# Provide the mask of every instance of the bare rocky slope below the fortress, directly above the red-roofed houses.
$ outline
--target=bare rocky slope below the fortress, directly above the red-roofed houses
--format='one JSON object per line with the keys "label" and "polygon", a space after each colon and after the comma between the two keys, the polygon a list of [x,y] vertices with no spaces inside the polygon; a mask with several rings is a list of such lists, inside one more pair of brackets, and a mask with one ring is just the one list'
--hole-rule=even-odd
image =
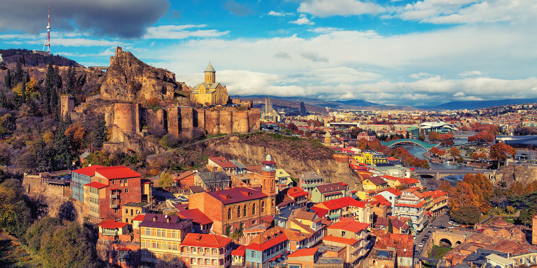
{"label": "bare rocky slope below the fortress, directly above the red-roofed houses", "polygon": [[[282,143],[285,142],[282,141]],[[360,185],[358,175],[346,162],[336,161],[333,157],[316,158],[315,152],[300,156],[293,155],[286,150],[285,144],[280,147],[268,147],[263,143],[257,145],[247,143],[244,141],[244,136],[231,136],[211,140],[206,145],[207,151],[214,150],[221,155],[237,159],[244,165],[259,165],[265,160],[266,155],[270,154],[272,159],[277,162],[277,168],[285,169],[292,177],[315,171],[323,176],[326,182],[344,182],[350,187],[354,187],[354,184]]]}

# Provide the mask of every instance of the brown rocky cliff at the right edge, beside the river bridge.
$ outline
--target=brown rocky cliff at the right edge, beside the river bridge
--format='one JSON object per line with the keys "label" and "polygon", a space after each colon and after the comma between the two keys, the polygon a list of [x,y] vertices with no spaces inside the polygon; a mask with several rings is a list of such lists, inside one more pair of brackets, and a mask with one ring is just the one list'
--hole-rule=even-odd
{"label": "brown rocky cliff at the right edge, beside the river bridge", "polygon": [[537,179],[537,166],[523,166],[515,165],[511,163],[509,166],[502,166],[498,168],[494,177],[494,183],[500,184],[506,183],[506,187],[509,188],[515,182],[521,182],[527,184]]}

